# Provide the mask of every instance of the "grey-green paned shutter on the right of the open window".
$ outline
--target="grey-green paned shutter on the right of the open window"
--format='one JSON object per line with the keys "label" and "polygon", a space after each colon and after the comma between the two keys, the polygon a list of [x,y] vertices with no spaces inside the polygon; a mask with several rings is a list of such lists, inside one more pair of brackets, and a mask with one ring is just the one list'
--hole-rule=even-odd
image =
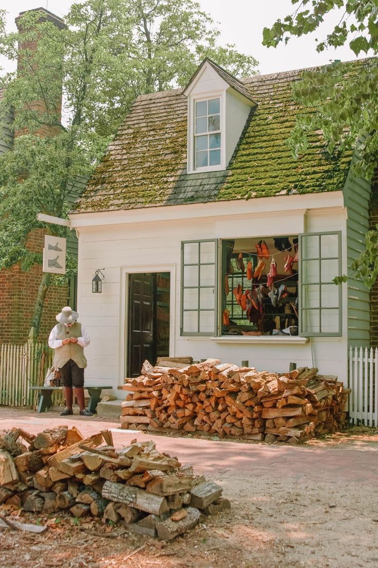
{"label": "grey-green paned shutter on the right of the open window", "polygon": [[341,232],[299,235],[299,335],[341,336]]}

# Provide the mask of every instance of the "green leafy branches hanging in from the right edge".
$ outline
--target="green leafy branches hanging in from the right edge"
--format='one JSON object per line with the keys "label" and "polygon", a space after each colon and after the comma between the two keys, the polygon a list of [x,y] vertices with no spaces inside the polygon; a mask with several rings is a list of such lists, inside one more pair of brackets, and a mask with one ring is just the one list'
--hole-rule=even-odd
{"label": "green leafy branches hanging in from the right edge", "polygon": [[[293,86],[293,96],[304,109],[288,139],[294,156],[307,149],[308,133],[321,131],[330,153],[352,153],[355,175],[371,179],[378,161],[378,2],[376,0],[292,0],[294,12],[263,32],[263,44],[277,47],[292,36],[321,32],[321,24],[336,13],[339,21],[320,40],[316,50],[349,45],[366,59],[341,62],[305,71]],[[378,227],[377,227],[378,228]],[[351,265],[357,277],[371,289],[378,275],[378,232],[366,236],[366,250]],[[376,266],[377,264],[377,266]],[[335,278],[335,283],[346,277]]]}

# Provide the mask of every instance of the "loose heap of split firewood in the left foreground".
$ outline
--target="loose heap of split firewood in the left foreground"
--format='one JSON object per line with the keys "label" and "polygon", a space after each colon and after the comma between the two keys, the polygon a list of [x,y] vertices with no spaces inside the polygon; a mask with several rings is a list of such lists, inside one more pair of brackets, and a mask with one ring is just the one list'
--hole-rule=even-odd
{"label": "loose heap of split firewood in the left foreground", "polygon": [[115,449],[107,430],[85,439],[67,426],[37,436],[19,428],[0,432],[0,506],[5,509],[42,515],[67,509],[74,517],[101,517],[172,540],[192,528],[201,513],[230,508],[221,494],[222,487],[158,452],[152,441]]}

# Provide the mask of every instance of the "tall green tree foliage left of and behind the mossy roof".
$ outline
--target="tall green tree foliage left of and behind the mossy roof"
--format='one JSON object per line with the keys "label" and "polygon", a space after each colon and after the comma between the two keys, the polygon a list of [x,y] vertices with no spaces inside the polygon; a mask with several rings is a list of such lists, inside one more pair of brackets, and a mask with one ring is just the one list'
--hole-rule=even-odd
{"label": "tall green tree foliage left of and behind the mossy roof", "polygon": [[[219,30],[192,0],[86,0],[71,6],[63,29],[39,16],[27,12],[21,33],[7,33],[0,12],[0,53],[19,61],[0,78],[0,131],[10,108],[17,131],[0,157],[0,268],[41,262],[27,248],[33,229],[66,236],[36,214],[67,215],[75,181],[91,174],[139,94],[185,85],[205,56],[232,73],[256,73],[253,57],[218,45]],[[49,284],[44,274],[37,332]]]}

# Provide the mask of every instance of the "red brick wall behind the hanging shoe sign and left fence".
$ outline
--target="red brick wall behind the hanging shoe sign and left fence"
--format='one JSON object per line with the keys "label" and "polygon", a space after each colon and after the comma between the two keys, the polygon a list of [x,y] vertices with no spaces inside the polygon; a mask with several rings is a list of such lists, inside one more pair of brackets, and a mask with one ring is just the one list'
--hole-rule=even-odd
{"label": "red brick wall behind the hanging shoe sign and left fence", "polygon": [[[33,231],[27,247],[34,252],[43,249],[42,230]],[[31,327],[37,291],[42,275],[40,265],[23,272],[18,265],[0,271],[0,343],[24,343]],[[50,286],[45,299],[39,340],[48,338],[56,324],[55,316],[67,304],[67,286]]]}

